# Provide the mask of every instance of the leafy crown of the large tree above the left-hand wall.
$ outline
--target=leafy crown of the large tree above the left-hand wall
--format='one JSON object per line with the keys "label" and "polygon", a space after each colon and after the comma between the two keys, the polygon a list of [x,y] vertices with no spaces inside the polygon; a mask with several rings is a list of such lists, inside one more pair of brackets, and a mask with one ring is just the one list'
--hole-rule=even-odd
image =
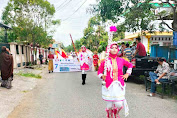
{"label": "leafy crown of the large tree above the left-hand wall", "polygon": [[8,41],[48,47],[53,40],[49,28],[60,24],[60,20],[52,19],[54,13],[54,6],[46,0],[10,0],[2,15],[3,23],[13,28]]}

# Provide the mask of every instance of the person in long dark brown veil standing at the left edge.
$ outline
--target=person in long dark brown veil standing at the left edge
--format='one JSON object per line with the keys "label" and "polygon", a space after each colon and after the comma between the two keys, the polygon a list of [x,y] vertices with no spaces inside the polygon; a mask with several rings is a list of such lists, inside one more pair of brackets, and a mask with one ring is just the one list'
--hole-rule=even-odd
{"label": "person in long dark brown veil standing at the left edge", "polygon": [[0,70],[2,83],[1,87],[10,89],[12,87],[11,82],[13,80],[13,57],[9,49],[6,46],[2,47],[2,53],[0,55]]}

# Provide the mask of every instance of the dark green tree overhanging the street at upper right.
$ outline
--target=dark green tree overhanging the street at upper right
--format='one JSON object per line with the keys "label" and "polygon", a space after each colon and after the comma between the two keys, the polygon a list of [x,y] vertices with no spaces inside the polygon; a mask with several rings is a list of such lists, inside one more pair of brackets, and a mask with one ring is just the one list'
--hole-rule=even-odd
{"label": "dark green tree overhanging the street at upper right", "polygon": [[118,22],[120,18],[124,18],[125,21],[121,26],[124,26],[126,31],[154,32],[156,30],[154,24],[152,24],[154,20],[162,20],[159,25],[160,27],[166,25],[169,29],[177,31],[177,1],[172,0],[174,2],[174,4],[172,4],[169,0],[163,0],[163,2],[159,4],[161,6],[168,4],[172,8],[172,27],[164,22],[167,14],[154,13],[156,7],[151,4],[151,1],[152,0],[143,0],[143,2],[139,0],[101,0],[97,5],[92,6],[92,13],[98,14],[103,22],[108,20]]}

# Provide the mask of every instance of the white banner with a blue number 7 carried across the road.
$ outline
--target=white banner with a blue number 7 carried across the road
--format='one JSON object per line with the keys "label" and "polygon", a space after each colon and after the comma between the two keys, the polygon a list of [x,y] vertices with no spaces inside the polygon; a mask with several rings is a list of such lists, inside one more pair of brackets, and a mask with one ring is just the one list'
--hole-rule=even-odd
{"label": "white banner with a blue number 7 carried across the road", "polygon": [[54,72],[75,72],[80,70],[80,62],[77,59],[54,59]]}

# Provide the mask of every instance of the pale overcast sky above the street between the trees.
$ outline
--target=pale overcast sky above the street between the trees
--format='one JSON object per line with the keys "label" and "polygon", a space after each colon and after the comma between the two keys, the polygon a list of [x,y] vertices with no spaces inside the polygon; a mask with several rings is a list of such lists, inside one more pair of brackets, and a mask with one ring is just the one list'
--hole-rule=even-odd
{"label": "pale overcast sky above the street between the trees", "polygon": [[[0,0],[0,17],[2,11],[9,0]],[[90,4],[95,4],[96,0],[48,0],[56,8],[54,19],[61,19],[61,25],[56,27],[53,38],[62,42],[64,46],[71,44],[69,34],[71,33],[73,40],[83,37],[83,31],[87,27],[91,14],[86,13]],[[85,2],[86,1],[86,2]],[[85,3],[84,3],[85,2]],[[84,3],[84,4],[83,4]],[[80,7],[83,4],[82,7]],[[78,8],[80,9],[75,12]],[[1,22],[1,21],[0,21]]]}

